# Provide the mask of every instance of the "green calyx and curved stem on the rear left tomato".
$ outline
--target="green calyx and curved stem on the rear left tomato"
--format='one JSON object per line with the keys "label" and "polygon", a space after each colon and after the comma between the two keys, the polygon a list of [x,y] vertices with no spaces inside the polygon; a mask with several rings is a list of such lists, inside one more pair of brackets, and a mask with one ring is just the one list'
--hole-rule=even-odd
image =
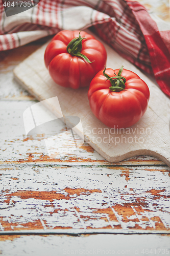
{"label": "green calyx and curved stem on the rear left tomato", "polygon": [[85,37],[81,37],[79,32],[79,37],[72,39],[67,45],[67,52],[73,56],[79,56],[85,59],[88,63],[92,63],[84,54],[81,53],[82,50],[82,40],[86,39]]}

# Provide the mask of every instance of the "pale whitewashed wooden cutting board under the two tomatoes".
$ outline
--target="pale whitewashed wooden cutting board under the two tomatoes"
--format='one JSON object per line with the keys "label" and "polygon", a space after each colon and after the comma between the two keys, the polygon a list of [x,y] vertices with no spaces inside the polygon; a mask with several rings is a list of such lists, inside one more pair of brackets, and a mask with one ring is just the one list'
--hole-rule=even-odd
{"label": "pale whitewashed wooden cutting board under the two tomatoes", "polygon": [[[85,141],[106,160],[119,162],[136,155],[149,155],[170,166],[170,100],[153,81],[104,44],[108,55],[107,68],[118,69],[123,65],[134,71],[148,84],[151,94],[147,112],[135,125],[129,129],[109,129],[92,114],[88,88],[67,89],[53,82],[43,60],[46,46],[43,45],[14,69],[15,79],[25,89],[39,101],[57,96],[63,115],[80,117]],[[52,110],[52,106],[48,107]]]}

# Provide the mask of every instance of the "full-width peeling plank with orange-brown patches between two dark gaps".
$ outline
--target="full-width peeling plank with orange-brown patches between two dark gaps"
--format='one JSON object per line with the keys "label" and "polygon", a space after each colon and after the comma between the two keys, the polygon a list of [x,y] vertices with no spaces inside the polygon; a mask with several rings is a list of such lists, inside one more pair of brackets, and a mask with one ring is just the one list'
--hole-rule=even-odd
{"label": "full-width peeling plank with orange-brown patches between two dark gaps", "polygon": [[170,231],[169,167],[1,166],[2,231]]}

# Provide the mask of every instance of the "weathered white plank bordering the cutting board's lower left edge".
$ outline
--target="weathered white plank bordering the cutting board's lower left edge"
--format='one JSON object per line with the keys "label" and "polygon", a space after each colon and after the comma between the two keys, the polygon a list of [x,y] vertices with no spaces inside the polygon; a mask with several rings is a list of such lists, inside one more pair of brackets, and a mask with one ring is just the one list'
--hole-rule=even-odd
{"label": "weathered white plank bordering the cutting board's lower left edge", "polygon": [[[54,154],[47,155],[43,139],[46,134],[38,134],[36,139],[26,136],[23,124],[23,112],[29,106],[35,104],[35,100],[1,100],[0,102],[0,163],[9,164],[110,164],[91,146],[84,143],[76,148],[72,142],[70,132],[60,134]],[[55,134],[55,131],[54,131]],[[55,142],[55,141],[54,141]],[[160,160],[152,157],[135,157],[123,162],[124,165],[153,165],[163,164]],[[164,164],[165,165],[165,164]]]}

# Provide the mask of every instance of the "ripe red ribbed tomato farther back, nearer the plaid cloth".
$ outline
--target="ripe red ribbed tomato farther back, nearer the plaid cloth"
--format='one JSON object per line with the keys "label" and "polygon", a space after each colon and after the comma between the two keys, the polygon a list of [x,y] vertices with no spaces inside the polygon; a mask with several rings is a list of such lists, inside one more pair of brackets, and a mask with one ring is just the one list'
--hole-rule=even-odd
{"label": "ripe red ribbed tomato farther back, nearer the plaid cloth", "polygon": [[82,31],[60,31],[45,50],[45,66],[53,80],[63,87],[89,86],[92,78],[106,65],[102,43]]}

